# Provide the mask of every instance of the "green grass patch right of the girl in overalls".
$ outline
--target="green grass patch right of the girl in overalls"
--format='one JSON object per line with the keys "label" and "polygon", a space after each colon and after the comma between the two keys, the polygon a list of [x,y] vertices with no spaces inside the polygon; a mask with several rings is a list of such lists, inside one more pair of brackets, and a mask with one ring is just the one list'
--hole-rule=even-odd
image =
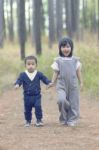
{"label": "green grass patch right of the girl in overalls", "polygon": [[99,92],[99,51],[97,47],[79,45],[77,55],[82,62],[84,89],[95,95]]}

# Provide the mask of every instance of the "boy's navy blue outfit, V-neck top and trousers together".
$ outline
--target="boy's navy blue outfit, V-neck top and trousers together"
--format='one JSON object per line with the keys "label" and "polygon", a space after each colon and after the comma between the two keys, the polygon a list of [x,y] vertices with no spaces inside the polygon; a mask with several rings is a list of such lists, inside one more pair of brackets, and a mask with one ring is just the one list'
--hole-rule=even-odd
{"label": "boy's navy blue outfit, V-neck top and trousers together", "polygon": [[43,73],[37,71],[36,76],[31,81],[25,72],[20,73],[19,78],[15,84],[19,86],[23,85],[24,93],[24,115],[25,120],[31,123],[32,120],[32,108],[35,108],[35,116],[37,120],[42,119],[42,107],[41,107],[41,86],[40,81],[48,85],[51,81],[43,75]]}

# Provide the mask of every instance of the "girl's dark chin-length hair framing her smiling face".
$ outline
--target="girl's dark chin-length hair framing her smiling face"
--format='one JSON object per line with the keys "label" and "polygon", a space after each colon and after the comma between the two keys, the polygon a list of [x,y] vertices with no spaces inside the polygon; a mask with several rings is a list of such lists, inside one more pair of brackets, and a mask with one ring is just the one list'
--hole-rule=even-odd
{"label": "girl's dark chin-length hair framing her smiling face", "polygon": [[70,39],[70,38],[67,38],[67,37],[64,37],[64,38],[62,38],[60,41],[59,41],[59,55],[61,56],[61,57],[65,57],[64,55],[63,55],[63,53],[62,53],[62,51],[61,51],[61,47],[63,46],[66,46],[67,44],[69,44],[70,45],[70,47],[71,47],[71,52],[70,52],[70,54],[67,56],[67,57],[71,57],[72,56],[72,54],[73,54],[73,41]]}

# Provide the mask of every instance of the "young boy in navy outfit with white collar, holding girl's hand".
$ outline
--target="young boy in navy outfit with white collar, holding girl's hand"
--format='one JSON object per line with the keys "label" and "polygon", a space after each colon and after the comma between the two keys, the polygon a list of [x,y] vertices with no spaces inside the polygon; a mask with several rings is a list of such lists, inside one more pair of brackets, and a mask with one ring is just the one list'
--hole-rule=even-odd
{"label": "young boy in navy outfit with white collar, holding girl's hand", "polygon": [[33,107],[35,108],[36,126],[43,126],[40,81],[49,86],[51,81],[42,72],[37,71],[37,58],[35,56],[25,58],[25,67],[26,70],[20,73],[15,82],[15,89],[23,85],[25,126],[31,125]]}

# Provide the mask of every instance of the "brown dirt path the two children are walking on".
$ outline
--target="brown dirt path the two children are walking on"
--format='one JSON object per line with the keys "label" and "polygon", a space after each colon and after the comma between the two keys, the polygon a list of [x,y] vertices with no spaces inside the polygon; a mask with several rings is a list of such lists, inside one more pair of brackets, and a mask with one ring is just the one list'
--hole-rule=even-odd
{"label": "brown dirt path the two children are walking on", "polygon": [[24,127],[22,91],[0,97],[0,150],[99,150],[99,102],[81,97],[77,127],[62,126],[54,89],[42,89],[45,126]]}

